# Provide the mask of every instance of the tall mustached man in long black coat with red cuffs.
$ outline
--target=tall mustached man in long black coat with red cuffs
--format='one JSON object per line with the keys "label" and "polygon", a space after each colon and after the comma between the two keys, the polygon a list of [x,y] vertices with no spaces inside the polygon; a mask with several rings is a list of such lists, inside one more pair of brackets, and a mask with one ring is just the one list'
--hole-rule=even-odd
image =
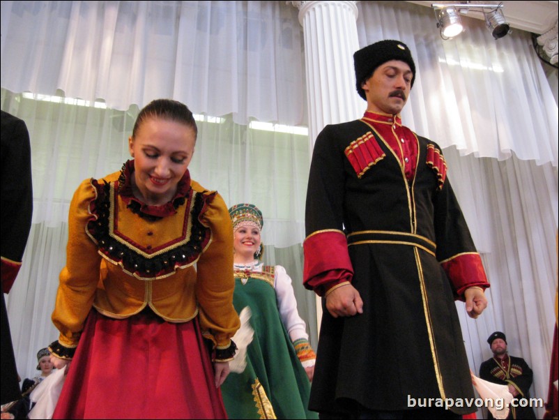
{"label": "tall mustached man in long black coat with red cuffs", "polygon": [[323,128],[307,188],[304,283],[323,297],[309,408],[459,419],[477,408],[441,404],[474,398],[454,300],[476,318],[489,283],[441,147],[401,123],[415,81],[407,45],[381,40],[353,60],[367,110]]}

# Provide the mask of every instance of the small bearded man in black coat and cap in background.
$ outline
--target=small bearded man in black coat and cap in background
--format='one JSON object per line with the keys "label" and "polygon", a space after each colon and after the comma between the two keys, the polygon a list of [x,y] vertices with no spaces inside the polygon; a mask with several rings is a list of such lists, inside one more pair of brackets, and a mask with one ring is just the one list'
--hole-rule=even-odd
{"label": "small bearded man in black coat and cap in background", "polygon": [[[517,398],[517,407],[510,406],[507,419],[535,419],[532,407],[528,405],[530,393],[528,392],[533,381],[533,372],[528,363],[521,357],[509,356],[507,352],[507,338],[504,333],[495,331],[487,338],[493,357],[482,363],[480,377],[483,380],[500,385],[508,385],[509,392]],[[522,401],[528,400],[528,401]],[[526,405],[526,407],[520,407]],[[488,413],[489,419],[493,419]]]}

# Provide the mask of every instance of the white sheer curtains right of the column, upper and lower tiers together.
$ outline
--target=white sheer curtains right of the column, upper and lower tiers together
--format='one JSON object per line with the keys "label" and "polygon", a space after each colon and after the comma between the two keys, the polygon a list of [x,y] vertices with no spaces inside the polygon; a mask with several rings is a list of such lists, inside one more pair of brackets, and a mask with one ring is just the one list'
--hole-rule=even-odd
{"label": "white sheer curtains right of the column, upper and lower tiers together", "polygon": [[470,320],[457,303],[470,368],[479,373],[491,357],[487,337],[503,331],[510,353],[534,370],[532,396],[546,400],[557,287],[558,107],[530,34],[493,40],[482,21],[462,17],[466,33],[443,41],[430,8],[402,1],[360,1],[358,8],[361,47],[386,38],[410,47],[418,78],[402,119],[445,148],[449,179],[482,253],[489,308]]}

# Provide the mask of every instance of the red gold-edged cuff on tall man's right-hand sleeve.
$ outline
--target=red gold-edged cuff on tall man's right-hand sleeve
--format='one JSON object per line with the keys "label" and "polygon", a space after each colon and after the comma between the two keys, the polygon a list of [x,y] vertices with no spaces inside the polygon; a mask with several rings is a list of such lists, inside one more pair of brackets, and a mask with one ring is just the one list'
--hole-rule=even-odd
{"label": "red gold-edged cuff on tall man's right-hand sleeve", "polygon": [[461,253],[441,261],[441,266],[454,286],[454,298],[464,301],[468,287],[489,287],[482,258],[478,253]]}

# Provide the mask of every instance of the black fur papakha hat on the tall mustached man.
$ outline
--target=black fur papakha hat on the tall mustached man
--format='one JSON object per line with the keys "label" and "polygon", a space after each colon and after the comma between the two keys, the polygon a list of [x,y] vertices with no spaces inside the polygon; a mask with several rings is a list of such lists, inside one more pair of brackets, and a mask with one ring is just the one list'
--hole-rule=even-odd
{"label": "black fur papakha hat on the tall mustached man", "polygon": [[411,86],[415,82],[415,63],[408,46],[399,40],[385,39],[358,50],[353,54],[355,66],[355,87],[361,98],[367,100],[361,84],[372,76],[374,70],[386,61],[399,60],[408,63],[413,73]]}

